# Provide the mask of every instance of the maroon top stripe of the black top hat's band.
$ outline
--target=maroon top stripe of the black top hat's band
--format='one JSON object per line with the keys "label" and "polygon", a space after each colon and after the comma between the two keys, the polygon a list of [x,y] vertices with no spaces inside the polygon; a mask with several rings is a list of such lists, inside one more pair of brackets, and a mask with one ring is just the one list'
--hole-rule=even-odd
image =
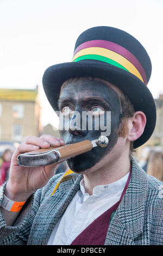
{"label": "maroon top stripe of the black top hat's band", "polygon": [[114,42],[110,42],[106,40],[91,40],[91,41],[84,42],[82,45],[79,45],[74,51],[74,55],[77,52],[83,50],[84,48],[90,48],[90,47],[103,47],[108,50],[114,51],[118,54],[121,54],[121,56],[128,59],[129,62],[135,66],[135,68],[140,72],[144,83],[147,85],[147,76],[146,76],[145,70],[143,69],[139,60],[126,48],[122,47],[121,45],[117,45]]}

